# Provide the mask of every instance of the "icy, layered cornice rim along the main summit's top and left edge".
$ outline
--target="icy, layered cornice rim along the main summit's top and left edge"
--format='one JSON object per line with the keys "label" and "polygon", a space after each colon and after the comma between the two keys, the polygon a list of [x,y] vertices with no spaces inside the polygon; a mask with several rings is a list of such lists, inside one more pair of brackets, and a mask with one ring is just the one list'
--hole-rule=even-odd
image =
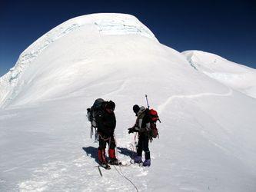
{"label": "icy, layered cornice rim along the main summit's top and left edge", "polygon": [[[87,28],[87,31],[102,37],[104,35],[141,35],[158,42],[155,35],[133,15],[100,13],[71,18],[38,38],[22,52],[15,67],[0,78],[0,106],[7,98],[15,94],[13,93],[14,87],[23,83],[19,81],[23,71],[41,55],[42,51],[54,44],[55,41],[71,33],[71,31],[79,30],[81,27]],[[91,38],[91,36],[90,34],[83,35],[81,41],[83,41],[83,38]]]}

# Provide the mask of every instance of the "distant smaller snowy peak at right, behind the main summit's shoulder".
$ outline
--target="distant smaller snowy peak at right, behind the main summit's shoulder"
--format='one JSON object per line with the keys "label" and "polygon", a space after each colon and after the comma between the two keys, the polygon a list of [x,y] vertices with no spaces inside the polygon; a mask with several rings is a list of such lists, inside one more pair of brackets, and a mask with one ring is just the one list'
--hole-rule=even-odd
{"label": "distant smaller snowy peak at right, behind the main summit's shoulder", "polygon": [[204,51],[184,51],[191,66],[241,93],[256,98],[256,70]]}

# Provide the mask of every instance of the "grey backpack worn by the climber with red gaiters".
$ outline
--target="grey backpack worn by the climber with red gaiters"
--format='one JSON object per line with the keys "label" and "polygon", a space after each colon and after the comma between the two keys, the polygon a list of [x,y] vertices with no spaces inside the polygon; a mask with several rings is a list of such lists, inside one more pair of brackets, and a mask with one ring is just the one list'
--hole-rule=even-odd
{"label": "grey backpack worn by the climber with red gaiters", "polygon": [[94,104],[91,106],[91,108],[87,109],[87,118],[88,121],[91,122],[91,135],[93,134],[93,128],[98,127],[97,125],[97,121],[96,121],[96,113],[101,110],[101,105],[104,103],[105,101],[102,98],[98,98],[95,100]]}

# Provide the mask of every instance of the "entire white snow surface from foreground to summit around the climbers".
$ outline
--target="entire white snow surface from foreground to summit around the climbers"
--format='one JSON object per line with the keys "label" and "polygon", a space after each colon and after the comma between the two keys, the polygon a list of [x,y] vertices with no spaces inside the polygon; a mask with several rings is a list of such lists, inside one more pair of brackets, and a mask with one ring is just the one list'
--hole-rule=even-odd
{"label": "entire white snow surface from foreground to summit around the climbers", "polygon": [[[131,15],[85,15],[49,31],[0,78],[0,190],[255,191],[255,71],[202,55],[161,45]],[[132,106],[145,94],[161,118],[151,167],[101,177],[86,108],[115,101],[117,155],[129,162]]]}

